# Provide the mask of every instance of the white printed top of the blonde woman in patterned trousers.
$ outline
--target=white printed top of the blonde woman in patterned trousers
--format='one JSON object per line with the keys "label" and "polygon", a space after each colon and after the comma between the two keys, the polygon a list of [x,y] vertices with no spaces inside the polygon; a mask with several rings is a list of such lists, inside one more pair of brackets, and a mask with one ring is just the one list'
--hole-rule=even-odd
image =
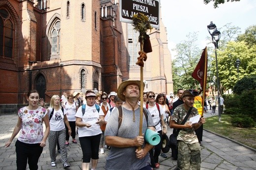
{"label": "white printed top of the blonde woman in patterned trousers", "polygon": [[[48,108],[49,109],[49,117],[53,111],[53,108]],[[61,109],[58,111],[54,110],[53,116],[50,120],[50,131],[61,131],[65,129],[64,125],[64,113],[62,112]]]}

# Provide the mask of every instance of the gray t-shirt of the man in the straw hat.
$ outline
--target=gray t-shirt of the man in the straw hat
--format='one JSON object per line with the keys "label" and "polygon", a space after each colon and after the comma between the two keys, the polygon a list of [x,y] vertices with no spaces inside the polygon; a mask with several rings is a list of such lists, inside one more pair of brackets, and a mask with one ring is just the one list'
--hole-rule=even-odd
{"label": "gray t-shirt of the man in the straw hat", "polygon": [[[151,114],[147,109],[146,111],[148,114],[148,125],[146,117],[143,114],[143,134],[145,134],[147,127],[154,127]],[[123,108],[123,120],[118,129],[118,109],[115,109],[108,119],[105,136],[118,136],[128,139],[135,138],[139,135],[139,119],[140,108],[135,110],[135,122],[133,122],[133,112]],[[143,159],[137,159],[135,153],[136,149],[137,147],[119,148],[111,146],[109,156],[106,158],[106,170],[139,170],[149,165],[149,153]]]}

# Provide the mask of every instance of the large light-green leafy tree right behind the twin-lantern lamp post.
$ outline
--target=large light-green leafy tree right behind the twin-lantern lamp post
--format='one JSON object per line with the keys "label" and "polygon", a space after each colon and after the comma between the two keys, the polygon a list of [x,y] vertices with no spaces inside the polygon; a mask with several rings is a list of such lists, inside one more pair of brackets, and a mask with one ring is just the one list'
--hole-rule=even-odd
{"label": "large light-green leafy tree right behind the twin-lantern lamp post", "polygon": [[[244,76],[256,75],[256,48],[248,48],[242,42],[230,41],[223,51],[218,51],[219,78],[223,90],[233,89],[238,81],[236,59],[240,59],[239,79]],[[215,65],[215,61],[213,61]],[[213,70],[214,71],[214,70]]]}

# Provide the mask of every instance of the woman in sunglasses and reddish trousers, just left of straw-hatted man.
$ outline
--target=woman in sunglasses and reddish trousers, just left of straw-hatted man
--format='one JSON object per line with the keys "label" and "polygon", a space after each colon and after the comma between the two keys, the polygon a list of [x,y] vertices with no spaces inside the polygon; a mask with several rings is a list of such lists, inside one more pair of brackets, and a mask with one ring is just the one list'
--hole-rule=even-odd
{"label": "woman in sunglasses and reddish trousers, just left of straw-hatted man", "polygon": [[[106,116],[108,110],[111,108],[109,103],[107,102],[107,93],[103,92],[101,94],[101,100],[102,103],[100,103],[99,107],[102,109],[103,113],[104,113],[104,117]],[[100,153],[103,154],[104,153],[104,148],[103,148],[103,143],[104,143],[104,132],[106,129],[106,124],[107,122],[104,122],[103,125],[100,126],[100,129],[102,131],[101,137],[100,137],[100,142],[99,142],[99,147],[100,147]]]}

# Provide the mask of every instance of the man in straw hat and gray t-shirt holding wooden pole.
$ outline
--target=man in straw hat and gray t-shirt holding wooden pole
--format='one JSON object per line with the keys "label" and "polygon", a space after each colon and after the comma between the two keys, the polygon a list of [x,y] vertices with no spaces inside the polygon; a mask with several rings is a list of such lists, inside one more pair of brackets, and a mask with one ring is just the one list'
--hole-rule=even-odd
{"label": "man in straw hat and gray t-shirt holding wooden pole", "polygon": [[[147,128],[155,131],[155,126],[151,114],[146,110],[148,119],[143,114],[143,136],[138,136],[140,81],[122,82],[118,87],[117,95],[125,101],[122,105],[123,118],[120,125],[118,109],[115,109],[108,119],[105,141],[111,149],[105,168],[107,170],[151,170],[149,150],[153,145],[145,142],[144,134]],[[138,146],[141,146],[141,150],[138,150]]]}

